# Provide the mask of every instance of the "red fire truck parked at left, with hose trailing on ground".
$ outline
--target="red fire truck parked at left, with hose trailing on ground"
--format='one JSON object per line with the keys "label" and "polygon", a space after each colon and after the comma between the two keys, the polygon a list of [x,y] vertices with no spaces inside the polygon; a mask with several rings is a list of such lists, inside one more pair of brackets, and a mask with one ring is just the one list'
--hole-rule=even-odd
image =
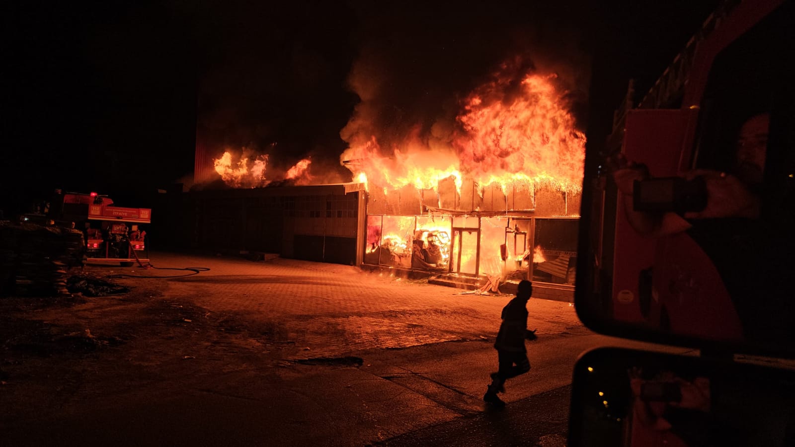
{"label": "red fire truck parked at left, with hose trailing on ground", "polygon": [[149,261],[144,228],[152,221],[150,208],[114,206],[110,197],[96,192],[56,190],[46,216],[52,223],[83,231],[85,262],[132,266]]}

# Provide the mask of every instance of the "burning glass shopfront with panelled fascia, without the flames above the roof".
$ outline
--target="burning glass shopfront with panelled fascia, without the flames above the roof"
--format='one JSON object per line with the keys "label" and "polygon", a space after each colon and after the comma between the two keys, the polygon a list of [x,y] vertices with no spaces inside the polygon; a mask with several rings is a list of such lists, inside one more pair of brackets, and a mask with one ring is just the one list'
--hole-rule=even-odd
{"label": "burning glass shopfront with panelled fascia, without the flames above the roof", "polygon": [[568,301],[579,193],[529,181],[461,190],[448,178],[437,190],[368,192],[363,266],[419,270],[437,284],[483,291],[531,278],[539,293]]}

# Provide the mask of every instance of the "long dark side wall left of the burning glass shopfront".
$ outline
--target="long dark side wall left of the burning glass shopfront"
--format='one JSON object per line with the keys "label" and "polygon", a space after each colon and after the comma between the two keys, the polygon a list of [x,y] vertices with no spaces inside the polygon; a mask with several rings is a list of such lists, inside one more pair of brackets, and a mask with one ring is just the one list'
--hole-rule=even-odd
{"label": "long dark side wall left of the burning glass shopfront", "polygon": [[[359,193],[345,185],[224,189],[176,194],[163,204],[173,246],[262,251],[318,262],[355,263]],[[171,219],[173,217],[173,219]]]}

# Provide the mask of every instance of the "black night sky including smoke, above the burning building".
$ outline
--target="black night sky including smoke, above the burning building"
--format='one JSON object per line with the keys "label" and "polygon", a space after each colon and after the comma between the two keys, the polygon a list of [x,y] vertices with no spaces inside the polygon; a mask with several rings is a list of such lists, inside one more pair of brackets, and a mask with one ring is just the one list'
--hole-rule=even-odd
{"label": "black night sky including smoke, above the burning building", "polygon": [[598,146],[630,77],[650,87],[716,4],[4,2],[0,209],[189,183],[197,125],[344,175],[357,105],[384,131],[427,125],[517,54],[559,74]]}

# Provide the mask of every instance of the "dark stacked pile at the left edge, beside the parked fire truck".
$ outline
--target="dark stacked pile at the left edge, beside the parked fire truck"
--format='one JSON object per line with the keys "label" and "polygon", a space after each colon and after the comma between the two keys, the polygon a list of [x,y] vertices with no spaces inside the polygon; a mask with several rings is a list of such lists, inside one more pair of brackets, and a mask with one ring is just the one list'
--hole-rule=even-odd
{"label": "dark stacked pile at the left edge, beside the parked fire truck", "polygon": [[83,262],[74,228],[0,221],[0,296],[68,294],[68,270]]}

